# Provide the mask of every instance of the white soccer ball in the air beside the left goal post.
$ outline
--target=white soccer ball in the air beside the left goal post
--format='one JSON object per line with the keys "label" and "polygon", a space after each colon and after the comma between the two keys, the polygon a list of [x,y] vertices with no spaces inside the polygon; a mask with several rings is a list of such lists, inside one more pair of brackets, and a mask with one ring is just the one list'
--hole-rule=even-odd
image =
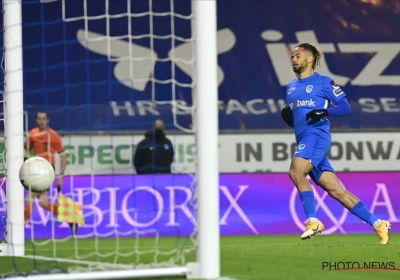
{"label": "white soccer ball in the air beside the left goal post", "polygon": [[42,157],[27,159],[19,170],[22,186],[32,192],[47,191],[55,177],[53,166]]}

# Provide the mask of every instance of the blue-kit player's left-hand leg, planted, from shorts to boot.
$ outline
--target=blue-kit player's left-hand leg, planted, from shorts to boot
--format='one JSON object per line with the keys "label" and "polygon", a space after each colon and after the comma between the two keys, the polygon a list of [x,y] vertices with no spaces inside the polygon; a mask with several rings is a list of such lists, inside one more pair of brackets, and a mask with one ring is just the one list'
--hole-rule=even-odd
{"label": "blue-kit player's left-hand leg, planted, from shorts to boot", "polygon": [[307,174],[314,168],[311,162],[315,161],[314,153],[318,141],[314,134],[306,135],[298,141],[296,151],[290,165],[289,177],[295,184],[299,197],[307,216],[308,222],[302,239],[308,239],[324,230],[324,225],[318,220],[315,209],[314,192],[307,180]]}

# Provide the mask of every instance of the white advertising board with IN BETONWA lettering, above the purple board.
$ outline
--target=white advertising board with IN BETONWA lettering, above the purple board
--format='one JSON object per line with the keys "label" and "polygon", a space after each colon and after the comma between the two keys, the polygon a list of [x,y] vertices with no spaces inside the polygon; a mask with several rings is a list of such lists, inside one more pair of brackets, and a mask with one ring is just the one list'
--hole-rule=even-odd
{"label": "white advertising board with IN BETONWA lettering, above the purple board", "polygon": [[[194,136],[168,137],[175,150],[173,172],[195,172]],[[132,159],[142,139],[140,135],[66,135],[67,173],[135,173]],[[399,140],[399,133],[334,133],[329,158],[338,171],[399,171]],[[289,133],[223,134],[219,136],[219,169],[222,173],[287,172],[295,146],[294,135]]]}

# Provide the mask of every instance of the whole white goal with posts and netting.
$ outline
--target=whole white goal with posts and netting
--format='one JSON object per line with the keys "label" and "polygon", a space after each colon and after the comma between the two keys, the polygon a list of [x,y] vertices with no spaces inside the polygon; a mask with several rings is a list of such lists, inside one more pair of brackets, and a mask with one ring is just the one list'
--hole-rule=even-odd
{"label": "whole white goal with posts and netting", "polygon": [[[0,279],[219,276],[215,6],[3,1]],[[65,150],[28,220],[24,110]]]}

